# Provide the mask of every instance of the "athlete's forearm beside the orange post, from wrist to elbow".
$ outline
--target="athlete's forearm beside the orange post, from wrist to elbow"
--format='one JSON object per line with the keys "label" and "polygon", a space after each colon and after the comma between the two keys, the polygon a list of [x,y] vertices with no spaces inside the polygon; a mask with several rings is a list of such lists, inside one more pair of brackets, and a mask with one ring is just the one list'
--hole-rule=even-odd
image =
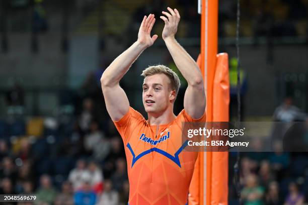
{"label": "athlete's forearm beside the orange post, from wrist to elbow", "polygon": [[183,77],[189,85],[202,84],[202,74],[194,59],[175,40],[174,37],[164,39],[166,46]]}

